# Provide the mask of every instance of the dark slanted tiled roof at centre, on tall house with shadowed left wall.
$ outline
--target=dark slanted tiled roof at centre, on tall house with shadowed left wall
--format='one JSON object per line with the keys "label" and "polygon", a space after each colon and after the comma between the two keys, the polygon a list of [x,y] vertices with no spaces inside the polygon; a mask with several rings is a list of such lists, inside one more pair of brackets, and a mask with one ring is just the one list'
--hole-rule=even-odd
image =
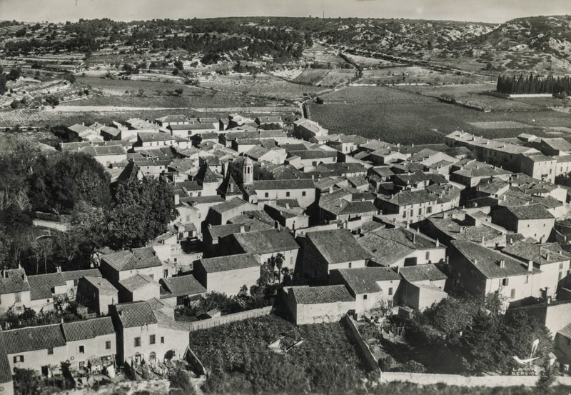
{"label": "dark slanted tiled roof at centre, on tall house with shadowed left wall", "polygon": [[360,246],[347,229],[315,231],[305,235],[329,264],[369,259],[370,254]]}

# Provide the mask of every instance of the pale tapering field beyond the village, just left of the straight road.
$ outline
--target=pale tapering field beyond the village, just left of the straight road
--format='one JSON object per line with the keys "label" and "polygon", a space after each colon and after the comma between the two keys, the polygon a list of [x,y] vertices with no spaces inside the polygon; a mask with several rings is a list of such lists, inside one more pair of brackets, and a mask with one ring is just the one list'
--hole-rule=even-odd
{"label": "pale tapering field beyond the village, just left of the straight road", "polygon": [[315,94],[323,88],[305,86],[283,81],[274,76],[213,76],[201,79],[201,86],[248,96],[261,96],[271,99],[296,100],[305,94]]}

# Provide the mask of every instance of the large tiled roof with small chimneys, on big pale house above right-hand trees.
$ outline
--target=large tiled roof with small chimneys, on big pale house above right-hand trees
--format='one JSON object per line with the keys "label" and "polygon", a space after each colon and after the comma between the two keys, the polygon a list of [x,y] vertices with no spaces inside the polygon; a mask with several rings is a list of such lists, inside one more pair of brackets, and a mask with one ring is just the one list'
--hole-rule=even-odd
{"label": "large tiled roof with small chimneys, on big pale house above right-hand trees", "polygon": [[[453,240],[450,243],[457,249],[460,254],[465,256],[473,263],[487,279],[497,279],[500,277],[522,276],[530,274],[527,266],[522,264],[511,256],[501,254],[500,252],[488,249],[480,244],[471,241]],[[504,261],[504,267],[500,267],[500,261]],[[540,273],[539,270],[533,269],[533,274]]]}

